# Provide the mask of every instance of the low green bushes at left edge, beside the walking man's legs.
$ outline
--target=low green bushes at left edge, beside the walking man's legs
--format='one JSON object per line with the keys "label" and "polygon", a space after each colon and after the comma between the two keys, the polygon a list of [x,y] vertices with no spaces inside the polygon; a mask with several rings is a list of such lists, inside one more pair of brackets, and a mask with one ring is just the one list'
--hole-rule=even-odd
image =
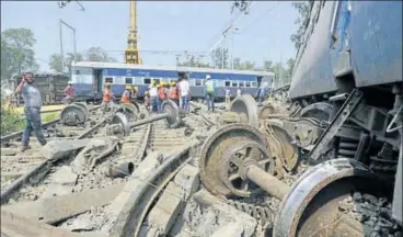
{"label": "low green bushes at left edge, beside the walking man's legs", "polygon": [[25,122],[1,100],[1,136],[23,129]]}

